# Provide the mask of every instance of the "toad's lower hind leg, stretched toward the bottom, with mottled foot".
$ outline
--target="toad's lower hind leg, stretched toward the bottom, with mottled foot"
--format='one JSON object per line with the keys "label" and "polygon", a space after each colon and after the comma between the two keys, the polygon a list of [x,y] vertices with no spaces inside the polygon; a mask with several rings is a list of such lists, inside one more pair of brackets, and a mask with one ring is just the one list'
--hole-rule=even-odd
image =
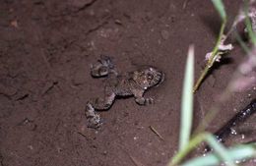
{"label": "toad's lower hind leg, stretched toward the bottom, with mottled foot", "polygon": [[115,98],[114,92],[106,93],[104,98],[91,99],[87,103],[86,107],[86,117],[88,119],[89,128],[98,128],[101,125],[101,120],[99,114],[96,110],[107,110],[112,105]]}

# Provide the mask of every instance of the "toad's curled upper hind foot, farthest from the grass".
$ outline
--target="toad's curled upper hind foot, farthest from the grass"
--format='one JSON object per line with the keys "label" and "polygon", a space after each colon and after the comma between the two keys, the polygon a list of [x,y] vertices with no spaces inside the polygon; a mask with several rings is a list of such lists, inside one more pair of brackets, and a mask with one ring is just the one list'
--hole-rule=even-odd
{"label": "toad's curled upper hind foot, farthest from the grass", "polygon": [[91,65],[91,75],[95,78],[107,76],[114,65],[110,57],[101,55],[96,64]]}

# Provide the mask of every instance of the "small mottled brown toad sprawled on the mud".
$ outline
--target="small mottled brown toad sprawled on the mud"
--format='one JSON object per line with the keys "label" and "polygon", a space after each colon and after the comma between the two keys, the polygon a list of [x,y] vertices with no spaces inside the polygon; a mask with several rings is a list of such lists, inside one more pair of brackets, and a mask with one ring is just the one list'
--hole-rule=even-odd
{"label": "small mottled brown toad sprawled on the mud", "polygon": [[119,75],[107,56],[101,56],[96,64],[91,65],[91,75],[93,78],[106,77],[103,97],[91,99],[86,106],[88,127],[94,129],[101,125],[96,110],[109,109],[116,96],[134,96],[136,103],[140,105],[151,104],[153,99],[145,98],[145,91],[164,80],[163,73],[151,66]]}

